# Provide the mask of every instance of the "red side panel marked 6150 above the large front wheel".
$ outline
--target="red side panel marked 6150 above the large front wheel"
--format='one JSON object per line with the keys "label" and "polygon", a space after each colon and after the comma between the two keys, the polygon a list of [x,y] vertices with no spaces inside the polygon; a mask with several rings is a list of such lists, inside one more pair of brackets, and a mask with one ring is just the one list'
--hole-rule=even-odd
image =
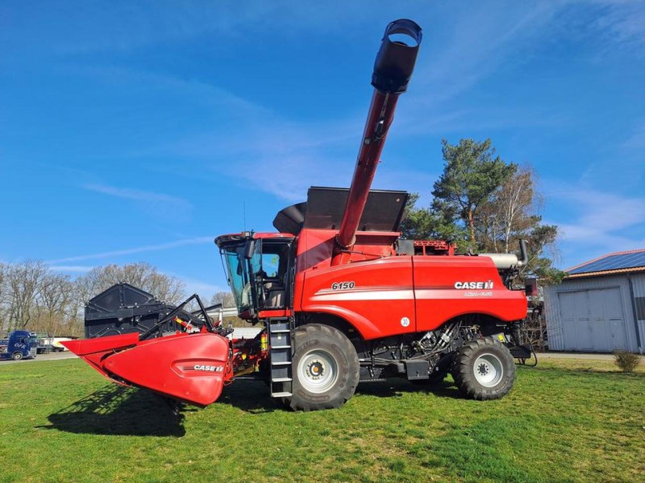
{"label": "red side panel marked 6150 above the large front wheel", "polygon": [[395,256],[299,274],[303,312],[352,323],[365,339],[416,332],[412,257]]}

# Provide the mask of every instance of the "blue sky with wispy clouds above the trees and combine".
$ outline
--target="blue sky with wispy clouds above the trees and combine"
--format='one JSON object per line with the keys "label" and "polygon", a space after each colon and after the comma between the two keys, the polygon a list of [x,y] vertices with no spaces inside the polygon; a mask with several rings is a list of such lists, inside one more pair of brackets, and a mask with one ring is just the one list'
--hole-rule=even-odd
{"label": "blue sky with wispy clouds above the trees and combine", "polygon": [[[320,5],[324,5],[321,7]],[[224,290],[217,234],[348,185],[382,30],[424,28],[373,184],[430,199],[442,137],[531,164],[557,265],[645,247],[645,4],[0,6],[0,261],[148,261]]]}

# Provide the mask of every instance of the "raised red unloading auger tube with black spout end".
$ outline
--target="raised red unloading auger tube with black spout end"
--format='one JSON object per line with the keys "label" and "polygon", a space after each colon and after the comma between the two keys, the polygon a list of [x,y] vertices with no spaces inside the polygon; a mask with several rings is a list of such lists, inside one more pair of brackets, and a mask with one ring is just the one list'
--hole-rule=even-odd
{"label": "raised red unloading auger tube with black spout end", "polygon": [[336,235],[332,265],[341,265],[350,260],[350,252],[356,242],[356,231],[392,124],[397,100],[408,88],[412,77],[421,36],[421,27],[407,19],[395,20],[385,29],[372,73],[372,104],[363,131],[350,193]]}

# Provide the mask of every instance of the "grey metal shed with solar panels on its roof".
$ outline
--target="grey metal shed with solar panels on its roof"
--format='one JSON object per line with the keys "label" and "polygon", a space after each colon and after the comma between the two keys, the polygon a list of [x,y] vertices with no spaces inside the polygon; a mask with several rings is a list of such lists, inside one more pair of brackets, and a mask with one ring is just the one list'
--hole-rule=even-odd
{"label": "grey metal shed with solar panels on its roof", "polygon": [[645,249],[615,252],[565,270],[545,287],[550,350],[643,353]]}

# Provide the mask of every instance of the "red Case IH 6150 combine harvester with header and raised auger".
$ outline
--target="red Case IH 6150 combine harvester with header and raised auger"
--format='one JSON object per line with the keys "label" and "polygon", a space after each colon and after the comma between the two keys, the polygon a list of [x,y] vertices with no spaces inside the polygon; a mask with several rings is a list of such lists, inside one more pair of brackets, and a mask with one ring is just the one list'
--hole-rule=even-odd
{"label": "red Case IH 6150 combine harvester with header and raised auger", "polygon": [[[264,328],[230,339],[197,296],[165,305],[126,284],[86,308],[86,337],[64,343],[112,381],[184,403],[217,400],[235,377],[263,379],[294,410],[338,408],[359,382],[437,381],[497,399],[515,379],[526,296],[514,254],[455,254],[450,243],[402,240],[408,193],[370,191],[399,95],[421,43],[410,20],[386,28],[350,189],[312,187],[280,211],[278,232],[217,237],[239,316]],[[185,310],[195,299],[197,312]]]}

